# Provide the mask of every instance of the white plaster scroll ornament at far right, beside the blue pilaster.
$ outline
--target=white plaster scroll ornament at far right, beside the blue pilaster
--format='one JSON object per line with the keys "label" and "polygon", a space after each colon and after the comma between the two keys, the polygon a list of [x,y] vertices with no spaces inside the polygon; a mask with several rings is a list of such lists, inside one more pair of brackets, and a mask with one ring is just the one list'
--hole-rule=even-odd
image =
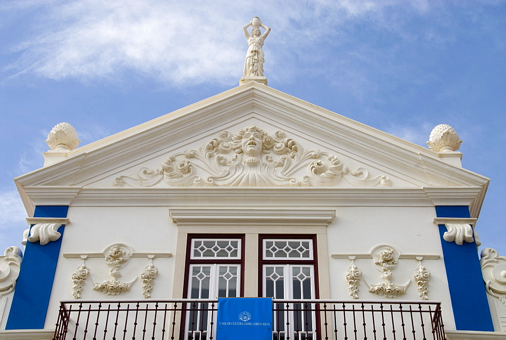
{"label": "white plaster scroll ornament at far right, beside the blue pilaster", "polygon": [[492,248],[481,252],[481,271],[487,293],[506,306],[506,257]]}

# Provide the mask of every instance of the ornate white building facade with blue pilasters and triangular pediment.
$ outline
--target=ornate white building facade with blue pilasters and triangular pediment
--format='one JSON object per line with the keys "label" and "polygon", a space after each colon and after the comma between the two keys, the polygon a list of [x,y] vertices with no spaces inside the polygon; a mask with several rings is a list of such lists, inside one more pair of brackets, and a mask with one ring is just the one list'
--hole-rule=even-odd
{"label": "ornate white building facade with blue pilasters and triangular pediment", "polygon": [[489,179],[450,127],[424,148],[242,81],[73,133],[16,178],[33,217],[0,338],[210,339],[220,297],[274,298],[275,339],[506,338],[506,259],[480,265],[474,232]]}

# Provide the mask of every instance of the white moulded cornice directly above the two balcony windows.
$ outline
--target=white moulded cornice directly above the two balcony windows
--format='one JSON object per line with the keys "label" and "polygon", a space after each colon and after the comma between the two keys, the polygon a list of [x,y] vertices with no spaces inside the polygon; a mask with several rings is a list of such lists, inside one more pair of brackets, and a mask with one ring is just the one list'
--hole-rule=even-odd
{"label": "white moulded cornice directly above the two balcony windows", "polygon": [[182,225],[291,225],[327,226],[334,209],[223,209],[171,208],[170,216]]}

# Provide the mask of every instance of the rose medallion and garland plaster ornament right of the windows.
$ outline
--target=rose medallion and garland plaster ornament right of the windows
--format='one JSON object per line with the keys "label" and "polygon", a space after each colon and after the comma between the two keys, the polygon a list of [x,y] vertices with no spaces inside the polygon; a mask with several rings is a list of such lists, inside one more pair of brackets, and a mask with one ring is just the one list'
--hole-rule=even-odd
{"label": "rose medallion and garland plaster ornament right of the windows", "polygon": [[366,285],[369,287],[369,292],[388,298],[406,294],[406,289],[411,281],[408,281],[404,285],[392,283],[392,271],[398,265],[398,258],[399,253],[392,247],[384,246],[375,251],[373,255],[374,265],[377,270],[383,273],[383,282],[378,284],[369,284],[364,280]]}

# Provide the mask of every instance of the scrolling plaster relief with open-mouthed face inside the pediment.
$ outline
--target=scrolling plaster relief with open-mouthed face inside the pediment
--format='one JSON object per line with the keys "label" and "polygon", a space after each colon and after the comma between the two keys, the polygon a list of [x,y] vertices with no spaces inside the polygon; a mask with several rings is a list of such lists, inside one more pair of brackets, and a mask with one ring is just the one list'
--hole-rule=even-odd
{"label": "scrolling plaster relief with open-mouthed face inside the pediment", "polygon": [[223,131],[198,150],[167,157],[155,170],[141,168],[136,178],[119,176],[114,185],[152,186],[162,179],[173,186],[333,186],[341,179],[354,186],[391,185],[387,176],[368,177],[364,168],[349,171],[337,157],[305,150],[282,131],[270,136],[250,126],[234,135]]}

